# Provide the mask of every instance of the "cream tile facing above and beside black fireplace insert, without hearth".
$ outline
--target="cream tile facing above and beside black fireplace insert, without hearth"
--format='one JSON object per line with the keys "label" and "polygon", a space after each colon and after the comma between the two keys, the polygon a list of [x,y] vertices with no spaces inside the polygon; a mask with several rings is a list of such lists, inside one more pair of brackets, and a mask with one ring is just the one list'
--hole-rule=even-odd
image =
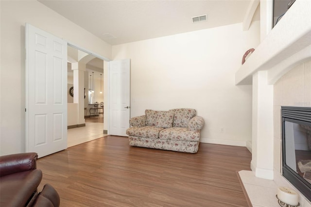
{"label": "cream tile facing above and beside black fireplace insert, without hearth", "polygon": [[[274,181],[277,186],[289,186],[281,176],[281,106],[311,107],[311,60],[306,61],[283,75],[274,84]],[[290,187],[290,186],[289,186]],[[310,192],[311,193],[311,192]],[[311,204],[302,199],[303,207]]]}

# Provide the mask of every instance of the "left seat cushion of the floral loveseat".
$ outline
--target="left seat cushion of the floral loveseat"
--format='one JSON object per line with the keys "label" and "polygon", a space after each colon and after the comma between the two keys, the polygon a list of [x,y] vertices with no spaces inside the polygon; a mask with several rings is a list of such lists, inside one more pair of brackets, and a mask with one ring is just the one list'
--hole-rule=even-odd
{"label": "left seat cushion of the floral loveseat", "polygon": [[159,138],[159,132],[163,130],[161,127],[143,126],[143,127],[130,127],[126,130],[126,134],[135,137],[144,138]]}

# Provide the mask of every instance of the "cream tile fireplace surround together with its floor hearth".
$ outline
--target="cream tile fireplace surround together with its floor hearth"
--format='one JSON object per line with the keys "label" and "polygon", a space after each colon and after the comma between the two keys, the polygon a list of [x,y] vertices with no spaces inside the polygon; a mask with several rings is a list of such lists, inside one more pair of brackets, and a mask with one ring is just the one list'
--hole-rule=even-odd
{"label": "cream tile fireplace surround together with its floor hearth", "polygon": [[[281,175],[281,106],[311,107],[311,59],[294,67],[273,86],[273,180],[258,178],[255,172],[239,172],[253,207],[279,207],[277,187],[294,187]],[[300,195],[300,207],[311,203]]]}

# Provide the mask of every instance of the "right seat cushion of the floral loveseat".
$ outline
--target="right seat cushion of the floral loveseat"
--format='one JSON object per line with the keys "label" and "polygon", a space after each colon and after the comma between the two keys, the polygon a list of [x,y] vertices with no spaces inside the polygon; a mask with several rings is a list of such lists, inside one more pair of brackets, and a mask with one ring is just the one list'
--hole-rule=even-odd
{"label": "right seat cushion of the floral loveseat", "polygon": [[190,131],[185,127],[172,127],[160,131],[159,138],[165,140],[199,141],[200,133]]}

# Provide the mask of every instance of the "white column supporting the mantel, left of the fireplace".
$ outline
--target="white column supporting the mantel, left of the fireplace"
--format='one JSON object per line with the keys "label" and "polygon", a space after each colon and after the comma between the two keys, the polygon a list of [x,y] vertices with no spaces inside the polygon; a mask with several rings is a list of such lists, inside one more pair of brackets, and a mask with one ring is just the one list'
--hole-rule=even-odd
{"label": "white column supporting the mantel, left of the fireplace", "polygon": [[273,85],[267,71],[253,75],[252,161],[256,177],[273,180]]}

